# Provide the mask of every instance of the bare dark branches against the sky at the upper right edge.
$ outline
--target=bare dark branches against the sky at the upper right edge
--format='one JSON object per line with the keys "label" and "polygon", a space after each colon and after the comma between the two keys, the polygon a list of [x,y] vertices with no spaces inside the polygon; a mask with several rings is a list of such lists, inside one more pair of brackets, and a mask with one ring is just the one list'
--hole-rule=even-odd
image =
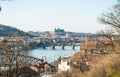
{"label": "bare dark branches against the sky at the upper right edge", "polygon": [[120,33],[120,0],[117,0],[117,2],[110,11],[102,13],[98,20],[102,24],[110,25]]}

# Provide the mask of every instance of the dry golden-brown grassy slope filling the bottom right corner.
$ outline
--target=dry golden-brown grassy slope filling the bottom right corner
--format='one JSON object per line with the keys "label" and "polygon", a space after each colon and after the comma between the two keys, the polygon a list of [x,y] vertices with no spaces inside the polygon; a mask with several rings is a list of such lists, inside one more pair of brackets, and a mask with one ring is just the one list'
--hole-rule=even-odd
{"label": "dry golden-brown grassy slope filling the bottom right corner", "polygon": [[82,77],[120,77],[120,54],[105,55]]}

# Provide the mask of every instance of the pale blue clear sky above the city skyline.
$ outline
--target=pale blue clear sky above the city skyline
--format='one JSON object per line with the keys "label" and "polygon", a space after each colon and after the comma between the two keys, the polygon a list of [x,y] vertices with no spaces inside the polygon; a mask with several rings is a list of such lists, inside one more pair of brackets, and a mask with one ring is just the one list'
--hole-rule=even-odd
{"label": "pale blue clear sky above the city skyline", "polygon": [[105,25],[97,21],[116,0],[0,0],[0,24],[23,31],[96,33]]}

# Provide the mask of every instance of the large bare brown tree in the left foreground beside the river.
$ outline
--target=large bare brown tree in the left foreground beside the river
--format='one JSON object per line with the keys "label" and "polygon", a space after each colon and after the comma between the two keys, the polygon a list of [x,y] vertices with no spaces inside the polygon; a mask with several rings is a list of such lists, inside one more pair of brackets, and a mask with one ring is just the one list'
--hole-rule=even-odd
{"label": "large bare brown tree in the left foreground beside the river", "polygon": [[17,74],[20,73],[20,67],[28,66],[30,63],[25,51],[28,46],[19,36],[8,37],[0,44],[2,54],[0,65],[7,69],[5,71],[6,77],[17,77]]}

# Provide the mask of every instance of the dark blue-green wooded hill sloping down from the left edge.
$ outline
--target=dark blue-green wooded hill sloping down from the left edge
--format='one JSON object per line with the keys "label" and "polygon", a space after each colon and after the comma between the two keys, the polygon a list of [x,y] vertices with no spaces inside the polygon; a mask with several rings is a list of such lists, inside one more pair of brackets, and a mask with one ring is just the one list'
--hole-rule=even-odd
{"label": "dark blue-green wooded hill sloping down from the left edge", "polygon": [[19,30],[17,28],[11,27],[11,26],[0,24],[0,36],[10,36],[11,34],[17,34],[19,36],[30,36],[30,37],[32,37],[32,35],[24,32],[22,30]]}

